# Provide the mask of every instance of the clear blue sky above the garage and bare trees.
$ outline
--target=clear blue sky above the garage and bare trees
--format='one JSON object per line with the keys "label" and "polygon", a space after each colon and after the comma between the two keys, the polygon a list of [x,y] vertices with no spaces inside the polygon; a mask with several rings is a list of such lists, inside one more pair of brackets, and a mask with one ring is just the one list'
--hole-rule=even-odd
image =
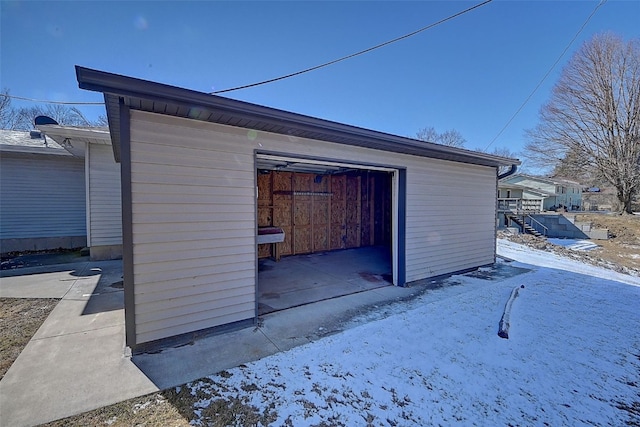
{"label": "clear blue sky above the garage and bare trees", "polygon": [[[78,89],[77,64],[209,92],[312,67],[477,3],[2,1],[0,82],[16,96],[102,101]],[[467,148],[485,148],[597,4],[494,0],[366,55],[224,96],[403,136],[456,129]],[[602,31],[640,37],[639,21],[640,1],[607,1],[491,148],[520,151],[571,54]]]}

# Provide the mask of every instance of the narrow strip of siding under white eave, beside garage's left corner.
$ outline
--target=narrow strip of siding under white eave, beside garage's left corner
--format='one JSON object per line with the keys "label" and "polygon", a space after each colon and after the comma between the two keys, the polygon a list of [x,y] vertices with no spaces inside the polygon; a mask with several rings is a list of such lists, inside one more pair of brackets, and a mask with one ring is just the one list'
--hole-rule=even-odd
{"label": "narrow strip of siding under white eave, beside garage's left corner", "polygon": [[110,145],[89,144],[89,246],[122,244],[120,164]]}

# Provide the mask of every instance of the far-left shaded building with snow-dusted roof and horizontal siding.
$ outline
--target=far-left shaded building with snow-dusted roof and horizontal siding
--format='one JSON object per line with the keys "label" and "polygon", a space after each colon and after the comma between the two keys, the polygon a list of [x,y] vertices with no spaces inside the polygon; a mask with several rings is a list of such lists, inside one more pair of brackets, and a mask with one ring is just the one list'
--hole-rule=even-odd
{"label": "far-left shaded building with snow-dusted roof and horizontal siding", "polygon": [[0,252],[86,243],[82,159],[39,131],[0,130]]}

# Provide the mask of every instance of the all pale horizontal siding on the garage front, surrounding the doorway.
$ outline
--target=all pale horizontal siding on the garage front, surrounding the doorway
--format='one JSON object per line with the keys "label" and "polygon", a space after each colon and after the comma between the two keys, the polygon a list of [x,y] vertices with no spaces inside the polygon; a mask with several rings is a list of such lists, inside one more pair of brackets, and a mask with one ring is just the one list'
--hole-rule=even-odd
{"label": "all pale horizontal siding on the garage front, surrounding the doorway", "polygon": [[255,316],[254,150],[407,168],[407,281],[492,263],[496,170],[131,111],[138,343]]}

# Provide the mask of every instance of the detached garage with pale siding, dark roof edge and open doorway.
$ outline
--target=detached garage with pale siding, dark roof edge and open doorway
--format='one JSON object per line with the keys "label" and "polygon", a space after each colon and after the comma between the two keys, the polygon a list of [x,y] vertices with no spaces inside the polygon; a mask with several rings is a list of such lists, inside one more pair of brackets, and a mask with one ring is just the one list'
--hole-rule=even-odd
{"label": "detached garage with pale siding, dark roof edge and open doorway", "polygon": [[76,73],[81,88],[104,94],[121,163],[135,351],[253,323],[266,259],[277,270],[295,257],[373,250],[397,286],[495,261],[497,170],[517,160]]}

